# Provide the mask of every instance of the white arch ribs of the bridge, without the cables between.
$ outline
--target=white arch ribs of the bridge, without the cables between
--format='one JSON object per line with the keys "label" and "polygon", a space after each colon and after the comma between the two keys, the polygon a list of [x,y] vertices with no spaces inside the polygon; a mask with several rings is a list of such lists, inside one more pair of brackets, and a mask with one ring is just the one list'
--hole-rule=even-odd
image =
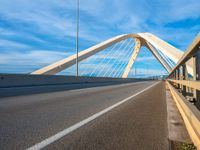
{"label": "white arch ribs of the bridge, without the cables between", "polygon": [[[167,57],[169,57],[171,60],[173,60],[175,63],[178,62],[178,60],[181,58],[181,56],[183,55],[183,52],[180,51],[179,49],[173,47],[172,45],[170,45],[169,43],[161,40],[160,38],[156,37],[153,34],[150,33],[137,33],[137,34],[123,34],[123,35],[119,35],[116,37],[113,37],[111,39],[108,39],[102,43],[99,43],[95,46],[92,46],[86,50],[83,50],[81,52],[79,52],[79,61],[82,61],[102,50],[104,50],[105,48],[120,42],[122,40],[128,39],[128,38],[134,38],[137,39],[136,45],[135,45],[135,49],[133,51],[132,57],[129,60],[129,63],[127,65],[127,67],[125,68],[123,77],[126,78],[128,76],[128,73],[130,72],[130,69],[137,57],[137,54],[140,50],[141,46],[146,46],[152,53],[153,55],[158,59],[158,61],[163,65],[163,67],[170,72],[172,68],[170,68],[170,66],[167,64],[167,62],[164,60],[164,58],[162,58],[162,56],[156,51],[155,48],[159,49],[164,55],[166,55]],[[138,46],[139,44],[139,46]],[[137,48],[138,47],[138,48]],[[137,53],[135,52],[137,51]],[[39,70],[36,70],[34,72],[32,72],[31,74],[48,74],[48,75],[53,75],[56,74],[72,65],[74,65],[76,63],[76,54],[67,57],[65,59],[62,59],[60,61],[57,61],[53,64],[50,64],[44,68],[41,68]],[[192,67],[190,64],[187,65],[188,68],[188,72],[190,74],[192,74]]]}

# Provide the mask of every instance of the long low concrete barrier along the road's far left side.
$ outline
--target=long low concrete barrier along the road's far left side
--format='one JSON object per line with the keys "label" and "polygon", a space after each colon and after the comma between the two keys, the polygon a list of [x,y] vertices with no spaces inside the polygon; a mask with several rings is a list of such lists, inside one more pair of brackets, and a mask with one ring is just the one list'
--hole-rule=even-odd
{"label": "long low concrete barrier along the road's far left side", "polygon": [[103,77],[75,77],[61,75],[29,75],[29,74],[0,74],[0,88],[27,87],[43,85],[63,85],[81,83],[104,82],[135,82],[143,79],[103,78]]}

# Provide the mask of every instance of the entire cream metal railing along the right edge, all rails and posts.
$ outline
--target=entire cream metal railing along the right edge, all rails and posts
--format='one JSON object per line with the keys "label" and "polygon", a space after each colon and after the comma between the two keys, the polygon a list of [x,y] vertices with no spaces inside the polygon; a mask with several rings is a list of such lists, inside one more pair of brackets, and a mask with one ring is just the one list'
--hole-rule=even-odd
{"label": "entire cream metal railing along the right edge, all rails and posts", "polygon": [[[187,65],[191,63],[193,73]],[[200,33],[167,78],[168,87],[197,149],[200,149]]]}

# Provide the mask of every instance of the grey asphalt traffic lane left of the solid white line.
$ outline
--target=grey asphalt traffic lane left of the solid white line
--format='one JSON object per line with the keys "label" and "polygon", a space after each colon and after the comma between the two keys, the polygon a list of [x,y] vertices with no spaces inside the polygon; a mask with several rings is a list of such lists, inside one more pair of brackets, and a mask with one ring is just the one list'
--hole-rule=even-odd
{"label": "grey asphalt traffic lane left of the solid white line", "polygon": [[[71,90],[62,92],[52,92],[46,94],[43,93],[43,94],[34,94],[34,95],[26,95],[18,97],[1,98],[0,99],[0,143],[1,143],[0,149],[29,148],[30,146],[33,146],[34,144],[41,142],[52,135],[55,135],[59,131],[62,131],[76,124],[77,122],[80,122],[85,118],[90,117],[91,115],[98,113],[101,110],[104,110],[105,108],[108,108],[109,106],[112,106],[117,102],[120,102],[121,100],[144,90],[145,88],[151,86],[154,83],[155,82],[153,81],[137,82],[137,83],[112,85],[105,87],[104,86],[93,87],[81,90]],[[159,84],[159,86],[161,85]],[[161,87],[163,87],[163,85]],[[158,91],[159,90],[162,89],[158,89]],[[163,91],[161,92],[161,94],[163,94]],[[131,101],[135,101],[135,98],[140,97],[142,95],[143,94],[140,94],[139,96],[132,98]],[[153,94],[151,93],[150,96],[152,95]],[[163,98],[163,95],[161,96],[162,96],[161,98]],[[159,99],[160,97],[157,98]],[[148,105],[146,106],[144,103],[145,98],[142,99],[145,108]],[[123,105],[125,104],[122,104],[122,106]],[[161,107],[163,107],[163,109],[166,109],[165,106],[163,105]],[[140,109],[143,108],[141,107]],[[115,112],[116,110],[117,108],[114,108],[113,110],[104,114],[103,116],[107,116],[108,114],[110,114],[111,112]],[[118,113],[121,114],[120,110]],[[116,115],[114,116],[114,118],[117,118],[118,116],[119,115]],[[101,121],[102,117],[99,118],[92,121],[93,124],[98,120]],[[105,123],[106,122],[108,122],[108,120],[105,121]],[[88,123],[88,125],[90,125],[90,123]],[[88,127],[87,128],[88,130],[93,129],[88,125],[80,127],[77,131],[86,127]],[[124,126],[124,128],[126,128],[126,126]],[[86,133],[83,133],[83,135],[85,134]],[[80,135],[82,134],[78,135],[80,137]],[[95,135],[99,135],[100,137],[102,136],[101,133]],[[86,143],[86,145],[94,145],[93,144],[94,141],[91,140],[92,143],[90,143],[89,140],[87,142],[82,143],[83,148],[81,147],[76,148],[77,143],[79,144],[81,142],[76,141],[77,137],[71,138],[69,136],[70,135],[67,135],[66,137],[56,141],[55,143],[50,144],[50,146],[46,148],[54,149],[56,147],[58,149],[62,148],[66,149],[70,145],[70,149],[84,149],[85,147],[84,143]],[[112,135],[108,134],[107,137],[109,136],[112,137]],[[71,141],[71,143],[73,143],[74,146],[71,146],[73,145],[71,143],[63,142],[65,138],[68,138],[68,140],[66,141]],[[88,138],[83,138],[82,140],[84,139],[86,140]],[[59,144],[59,141],[62,141],[61,142],[62,144]],[[123,143],[121,144],[124,145]],[[116,143],[116,145],[118,145],[118,143]],[[94,149],[94,147],[92,148]]]}

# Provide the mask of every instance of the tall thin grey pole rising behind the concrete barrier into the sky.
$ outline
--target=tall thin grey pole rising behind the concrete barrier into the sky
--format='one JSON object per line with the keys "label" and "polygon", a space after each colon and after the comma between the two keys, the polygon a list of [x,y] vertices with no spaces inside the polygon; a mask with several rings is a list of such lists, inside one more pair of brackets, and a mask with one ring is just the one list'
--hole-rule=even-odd
{"label": "tall thin grey pole rising behind the concrete barrier into the sky", "polygon": [[79,51],[79,0],[77,0],[77,14],[76,14],[76,77],[78,77],[78,51]]}

